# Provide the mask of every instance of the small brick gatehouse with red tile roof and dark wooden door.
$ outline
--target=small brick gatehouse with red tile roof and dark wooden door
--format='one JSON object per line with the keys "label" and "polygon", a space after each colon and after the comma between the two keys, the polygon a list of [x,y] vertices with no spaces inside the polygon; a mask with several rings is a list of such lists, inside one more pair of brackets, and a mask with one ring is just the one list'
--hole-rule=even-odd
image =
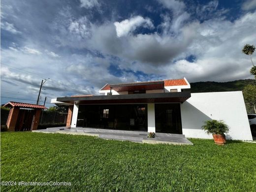
{"label": "small brick gatehouse with red tile roof and dark wooden door", "polygon": [[47,109],[43,105],[14,101],[10,101],[4,106],[10,107],[10,112],[6,123],[8,131],[36,130],[39,123],[41,110]]}

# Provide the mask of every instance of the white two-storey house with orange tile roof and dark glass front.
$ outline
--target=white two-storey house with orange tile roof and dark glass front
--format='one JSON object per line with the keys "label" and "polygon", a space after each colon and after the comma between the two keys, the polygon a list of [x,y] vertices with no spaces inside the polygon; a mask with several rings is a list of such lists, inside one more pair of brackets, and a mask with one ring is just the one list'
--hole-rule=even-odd
{"label": "white two-storey house with orange tile roof and dark glass front", "polygon": [[224,120],[229,139],[252,140],[242,92],[191,94],[186,78],[106,84],[99,96],[58,97],[52,103],[69,105],[67,124],[89,127],[184,134],[212,138],[201,126]]}

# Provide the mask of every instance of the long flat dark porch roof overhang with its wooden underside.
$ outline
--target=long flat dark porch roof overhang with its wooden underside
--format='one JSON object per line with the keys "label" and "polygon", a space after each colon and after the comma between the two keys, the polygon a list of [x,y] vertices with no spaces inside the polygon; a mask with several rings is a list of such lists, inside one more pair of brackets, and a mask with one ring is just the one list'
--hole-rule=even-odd
{"label": "long flat dark porch roof overhang with its wooden underside", "polygon": [[71,104],[113,104],[113,103],[183,103],[191,97],[190,92],[156,93],[156,94],[130,94],[112,96],[79,96],[58,97],[57,101]]}

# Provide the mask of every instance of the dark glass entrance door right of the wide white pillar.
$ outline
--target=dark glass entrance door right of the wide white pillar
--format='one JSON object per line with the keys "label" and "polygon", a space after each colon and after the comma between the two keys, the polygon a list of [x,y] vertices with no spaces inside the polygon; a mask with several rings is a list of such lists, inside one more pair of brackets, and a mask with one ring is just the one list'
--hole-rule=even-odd
{"label": "dark glass entrance door right of the wide white pillar", "polygon": [[155,104],[156,132],[182,134],[180,103]]}

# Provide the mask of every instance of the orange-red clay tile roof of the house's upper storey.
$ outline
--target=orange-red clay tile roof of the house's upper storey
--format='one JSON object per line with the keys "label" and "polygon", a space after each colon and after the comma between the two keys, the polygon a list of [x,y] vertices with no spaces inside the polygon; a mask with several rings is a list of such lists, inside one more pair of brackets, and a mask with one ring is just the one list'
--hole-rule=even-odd
{"label": "orange-red clay tile roof of the house's upper storey", "polygon": [[[157,80],[157,81],[144,81],[144,82],[134,82],[134,83],[128,83],[128,84],[134,84],[139,85],[141,83],[154,83],[154,82],[164,82],[164,86],[182,86],[182,85],[188,85],[185,79],[168,79],[168,80]],[[115,84],[118,85],[118,84]],[[101,91],[110,90],[110,84],[106,84],[103,88],[101,88]]]}

